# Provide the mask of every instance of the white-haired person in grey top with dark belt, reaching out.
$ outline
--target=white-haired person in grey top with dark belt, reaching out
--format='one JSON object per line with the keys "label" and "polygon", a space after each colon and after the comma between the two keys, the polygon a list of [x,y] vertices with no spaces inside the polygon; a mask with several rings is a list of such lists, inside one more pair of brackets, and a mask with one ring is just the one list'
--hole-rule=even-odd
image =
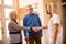
{"label": "white-haired person in grey top with dark belt, reaching out", "polygon": [[8,24],[9,33],[10,33],[10,44],[22,44],[21,30],[29,31],[30,28],[20,26],[16,22],[16,13],[15,11],[10,12],[11,21]]}

